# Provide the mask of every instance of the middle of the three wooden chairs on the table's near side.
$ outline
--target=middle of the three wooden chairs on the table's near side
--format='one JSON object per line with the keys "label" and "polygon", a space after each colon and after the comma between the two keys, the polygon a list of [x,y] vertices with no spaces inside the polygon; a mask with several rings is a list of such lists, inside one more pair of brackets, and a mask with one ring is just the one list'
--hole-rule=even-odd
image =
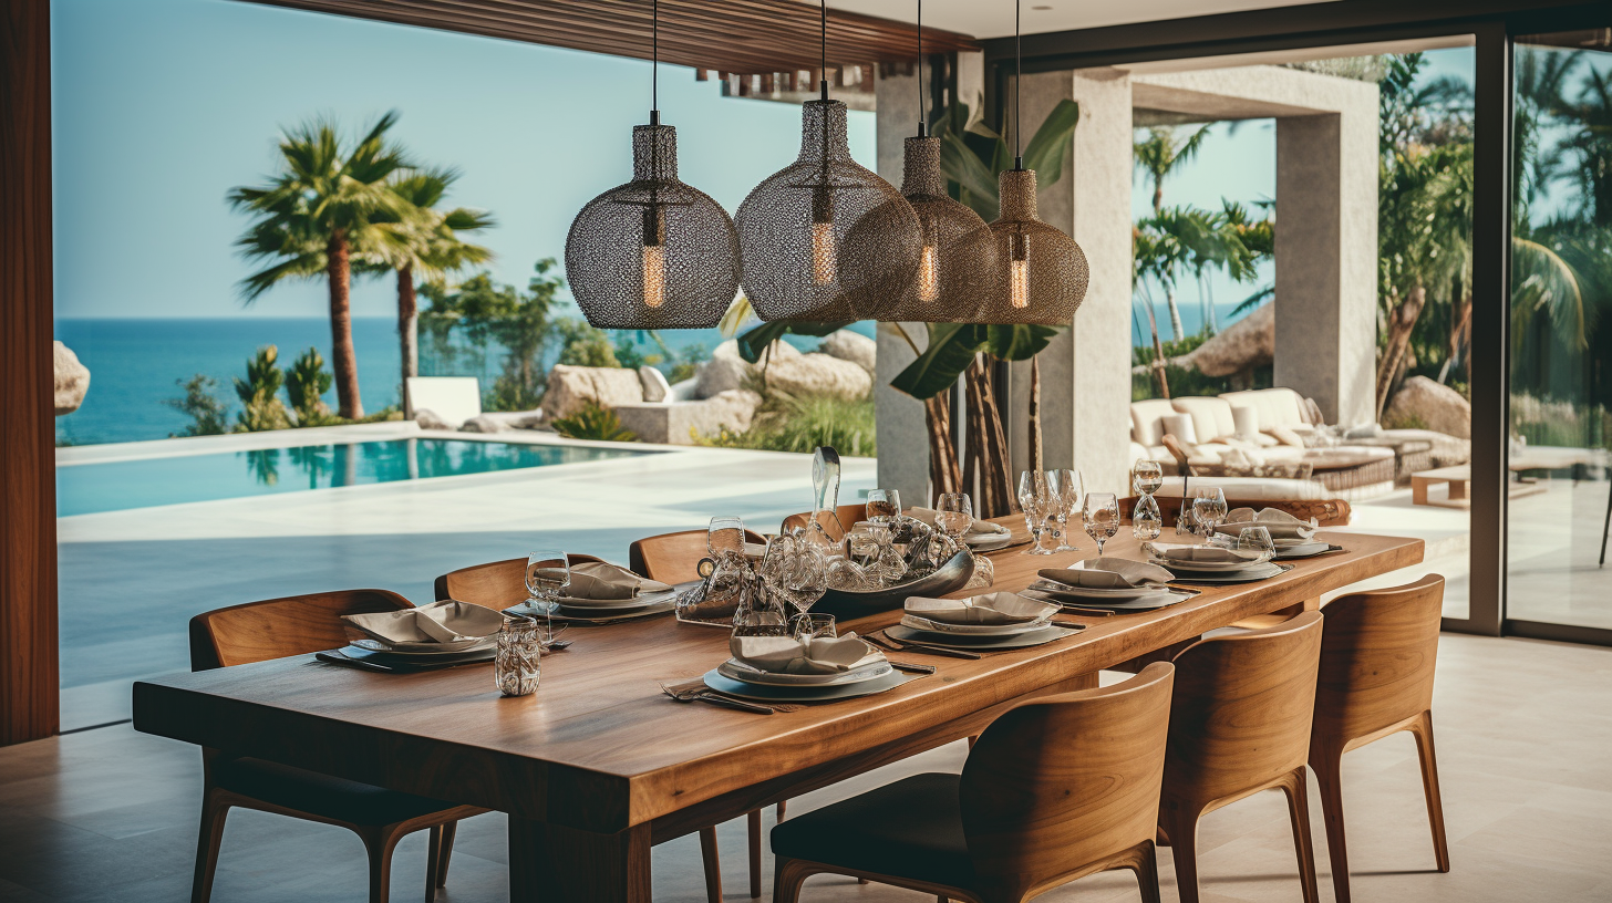
{"label": "middle of the three wooden chairs on the table's near side", "polygon": [[1198,821],[1261,790],[1288,798],[1304,903],[1315,903],[1306,753],[1315,711],[1322,614],[1193,643],[1175,656],[1170,750],[1159,830],[1182,903],[1198,903]]}

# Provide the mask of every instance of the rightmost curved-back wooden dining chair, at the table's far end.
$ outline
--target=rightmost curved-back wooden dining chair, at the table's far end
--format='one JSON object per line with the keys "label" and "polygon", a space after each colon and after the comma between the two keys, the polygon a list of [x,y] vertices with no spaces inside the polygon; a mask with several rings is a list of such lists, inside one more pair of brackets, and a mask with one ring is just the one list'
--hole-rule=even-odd
{"label": "rightmost curved-back wooden dining chair, at the table's far end", "polygon": [[1444,805],[1433,756],[1433,664],[1444,608],[1444,577],[1428,574],[1394,589],[1341,595],[1327,603],[1315,685],[1309,764],[1332,856],[1332,887],[1349,901],[1349,856],[1343,840],[1343,753],[1409,730],[1422,761],[1422,792],[1433,826],[1438,871],[1449,871]]}

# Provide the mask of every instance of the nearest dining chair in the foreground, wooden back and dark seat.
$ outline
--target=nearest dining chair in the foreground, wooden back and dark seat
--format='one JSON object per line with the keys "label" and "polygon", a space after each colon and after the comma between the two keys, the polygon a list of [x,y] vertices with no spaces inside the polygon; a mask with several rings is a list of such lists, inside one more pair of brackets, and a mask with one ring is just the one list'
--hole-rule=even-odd
{"label": "nearest dining chair in the foreground, wooden back and dark seat", "polygon": [[916,774],[772,829],[774,903],[814,874],[941,900],[1019,903],[1111,869],[1159,901],[1154,830],[1175,668],[1025,701],[993,721],[962,774]]}

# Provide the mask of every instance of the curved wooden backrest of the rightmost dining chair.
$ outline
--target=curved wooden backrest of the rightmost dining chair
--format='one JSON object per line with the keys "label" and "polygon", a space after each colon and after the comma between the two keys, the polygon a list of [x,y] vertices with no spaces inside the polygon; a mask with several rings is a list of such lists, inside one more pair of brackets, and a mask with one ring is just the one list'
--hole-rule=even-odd
{"label": "curved wooden backrest of the rightmost dining chair", "polygon": [[1354,740],[1431,710],[1443,610],[1440,574],[1327,603],[1315,734]]}

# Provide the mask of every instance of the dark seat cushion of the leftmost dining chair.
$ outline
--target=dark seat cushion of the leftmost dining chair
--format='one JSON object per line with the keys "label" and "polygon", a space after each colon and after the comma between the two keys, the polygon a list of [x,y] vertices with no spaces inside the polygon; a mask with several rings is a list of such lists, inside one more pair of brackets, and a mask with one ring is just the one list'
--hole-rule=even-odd
{"label": "dark seat cushion of the leftmost dining chair", "polygon": [[224,790],[348,824],[398,824],[456,808],[442,800],[253,758],[214,763],[213,774],[214,785]]}

